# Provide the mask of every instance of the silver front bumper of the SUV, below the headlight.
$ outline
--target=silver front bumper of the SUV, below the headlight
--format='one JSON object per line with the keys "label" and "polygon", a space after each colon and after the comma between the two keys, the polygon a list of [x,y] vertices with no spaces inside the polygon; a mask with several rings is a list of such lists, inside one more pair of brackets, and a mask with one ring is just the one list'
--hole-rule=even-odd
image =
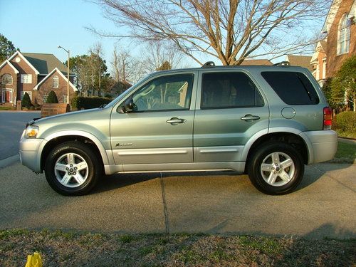
{"label": "silver front bumper of the SUV, below the headlight", "polygon": [[46,140],[24,137],[25,131],[23,131],[20,144],[20,160],[23,166],[26,166],[33,170],[33,172],[41,172],[41,152]]}

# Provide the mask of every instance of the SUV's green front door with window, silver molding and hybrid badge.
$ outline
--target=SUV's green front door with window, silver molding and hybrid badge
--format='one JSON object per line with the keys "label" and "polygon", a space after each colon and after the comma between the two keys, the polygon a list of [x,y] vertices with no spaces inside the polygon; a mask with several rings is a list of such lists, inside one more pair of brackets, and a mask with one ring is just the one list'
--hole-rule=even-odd
{"label": "SUV's green front door with window, silver molding and hybrid badge", "polygon": [[[116,164],[193,162],[194,73],[153,78],[112,110],[111,147]],[[122,106],[132,100],[130,112]]]}

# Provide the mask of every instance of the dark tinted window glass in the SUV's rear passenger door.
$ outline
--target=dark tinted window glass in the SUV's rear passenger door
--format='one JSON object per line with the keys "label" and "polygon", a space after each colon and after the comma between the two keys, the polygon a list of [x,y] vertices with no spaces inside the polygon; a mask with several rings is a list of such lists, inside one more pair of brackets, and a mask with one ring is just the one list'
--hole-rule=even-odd
{"label": "dark tinted window glass in the SUV's rear passenger door", "polygon": [[256,85],[245,73],[204,73],[201,108],[242,108],[262,106]]}

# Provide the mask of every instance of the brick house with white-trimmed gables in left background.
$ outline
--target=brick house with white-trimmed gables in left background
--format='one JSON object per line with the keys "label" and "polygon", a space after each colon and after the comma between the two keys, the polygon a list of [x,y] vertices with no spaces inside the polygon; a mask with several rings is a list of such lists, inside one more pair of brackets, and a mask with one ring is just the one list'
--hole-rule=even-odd
{"label": "brick house with white-trimmed gables in left background", "polygon": [[[67,103],[67,67],[47,53],[21,53],[16,51],[0,65],[0,103],[15,105],[28,93],[33,105],[46,103],[48,93],[53,90],[59,103]],[[70,73],[70,99],[78,91]]]}

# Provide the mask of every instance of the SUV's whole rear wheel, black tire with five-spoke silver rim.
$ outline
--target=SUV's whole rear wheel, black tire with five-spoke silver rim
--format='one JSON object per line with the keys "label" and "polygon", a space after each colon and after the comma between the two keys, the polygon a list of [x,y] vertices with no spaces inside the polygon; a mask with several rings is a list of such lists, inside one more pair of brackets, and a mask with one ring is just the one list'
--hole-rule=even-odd
{"label": "SUV's whole rear wheel, black tire with five-spoke silver rim", "polygon": [[248,162],[251,183],[265,194],[293,192],[303,174],[304,164],[299,152],[283,142],[268,142],[259,146]]}

